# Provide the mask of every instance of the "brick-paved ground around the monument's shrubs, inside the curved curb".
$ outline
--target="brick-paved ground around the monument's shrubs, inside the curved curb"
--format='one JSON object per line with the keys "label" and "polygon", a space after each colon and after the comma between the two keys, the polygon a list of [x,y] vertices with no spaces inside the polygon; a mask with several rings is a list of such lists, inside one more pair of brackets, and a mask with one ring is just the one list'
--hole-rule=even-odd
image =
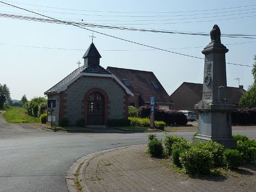
{"label": "brick-paved ground around the monument's shrubs, inside the curved curb", "polygon": [[188,178],[144,154],[145,145],[103,153],[85,170],[91,191],[256,191],[256,166],[227,177]]}

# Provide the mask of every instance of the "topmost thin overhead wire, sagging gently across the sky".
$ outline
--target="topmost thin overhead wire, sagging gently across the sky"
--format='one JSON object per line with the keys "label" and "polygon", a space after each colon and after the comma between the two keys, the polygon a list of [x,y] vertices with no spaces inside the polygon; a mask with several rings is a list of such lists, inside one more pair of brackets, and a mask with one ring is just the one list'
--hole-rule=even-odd
{"label": "topmost thin overhead wire, sagging gently across the sky", "polygon": [[53,9],[72,10],[72,11],[88,11],[88,12],[103,12],[103,13],[187,13],[187,12],[216,11],[216,10],[236,9],[236,8],[243,8],[243,7],[252,7],[252,6],[256,6],[256,5],[246,5],[246,6],[237,6],[237,7],[220,8],[220,9],[190,10],[190,11],[173,11],[173,12],[121,12],[121,11],[95,11],[95,10],[84,10],[84,9],[59,8],[59,7],[50,7],[50,6],[42,6],[42,5],[18,3],[18,2],[13,2],[13,1],[6,1],[6,2],[11,2],[11,3],[16,3],[16,4],[22,4],[22,5],[36,6],[36,7],[53,8]]}

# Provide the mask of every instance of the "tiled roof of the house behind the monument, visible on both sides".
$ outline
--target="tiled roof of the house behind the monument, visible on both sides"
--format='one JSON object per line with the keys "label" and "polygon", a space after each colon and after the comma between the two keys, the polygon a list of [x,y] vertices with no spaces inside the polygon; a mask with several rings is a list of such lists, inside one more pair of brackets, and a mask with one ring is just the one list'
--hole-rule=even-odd
{"label": "tiled roof of the house behind the monument, visible on both sides", "polygon": [[[203,84],[193,83],[193,82],[183,82],[192,91],[194,91],[199,97],[202,98],[203,95]],[[239,103],[240,98],[245,92],[242,88],[227,87],[227,100],[231,103]]]}

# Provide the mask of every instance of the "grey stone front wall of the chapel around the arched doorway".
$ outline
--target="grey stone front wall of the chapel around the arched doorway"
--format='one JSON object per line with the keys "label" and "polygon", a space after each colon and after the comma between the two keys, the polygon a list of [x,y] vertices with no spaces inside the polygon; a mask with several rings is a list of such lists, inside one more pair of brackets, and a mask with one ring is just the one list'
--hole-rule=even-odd
{"label": "grey stone front wall of the chapel around the arched doorway", "polygon": [[126,118],[128,98],[123,88],[112,78],[88,76],[79,77],[62,93],[64,102],[60,116],[68,118],[71,125],[75,125],[77,120],[84,118],[84,96],[94,88],[99,88],[108,95],[107,119]]}

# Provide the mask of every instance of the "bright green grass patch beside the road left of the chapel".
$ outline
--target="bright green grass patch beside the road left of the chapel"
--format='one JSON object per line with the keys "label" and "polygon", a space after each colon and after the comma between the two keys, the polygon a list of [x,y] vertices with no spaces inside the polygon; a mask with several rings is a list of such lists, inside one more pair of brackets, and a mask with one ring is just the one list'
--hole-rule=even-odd
{"label": "bright green grass patch beside the road left of the chapel", "polygon": [[12,107],[4,113],[3,117],[8,123],[39,123],[39,117],[32,117],[26,113],[26,109]]}

